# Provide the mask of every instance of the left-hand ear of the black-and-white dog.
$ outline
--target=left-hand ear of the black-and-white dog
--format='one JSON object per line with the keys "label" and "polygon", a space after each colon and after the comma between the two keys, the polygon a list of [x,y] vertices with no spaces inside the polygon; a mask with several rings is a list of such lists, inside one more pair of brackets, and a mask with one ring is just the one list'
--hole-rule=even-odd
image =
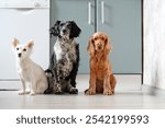
{"label": "left-hand ear of the black-and-white dog", "polygon": [[59,31],[61,31],[59,30],[59,25],[61,25],[61,21],[56,21],[54,26],[50,28],[51,37],[52,37],[52,35],[54,35],[54,36],[58,36],[59,35]]}

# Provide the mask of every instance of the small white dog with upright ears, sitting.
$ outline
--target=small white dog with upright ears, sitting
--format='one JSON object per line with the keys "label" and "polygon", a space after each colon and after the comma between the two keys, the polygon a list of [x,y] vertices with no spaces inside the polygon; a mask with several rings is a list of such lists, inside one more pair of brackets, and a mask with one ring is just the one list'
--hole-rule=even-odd
{"label": "small white dog with upright ears, sitting", "polygon": [[[16,69],[23,86],[19,94],[43,94],[48,86],[47,79],[44,70],[30,59],[33,42],[30,40],[25,45],[20,45],[19,40],[14,38],[12,45],[16,56]],[[28,83],[30,92],[26,91]]]}

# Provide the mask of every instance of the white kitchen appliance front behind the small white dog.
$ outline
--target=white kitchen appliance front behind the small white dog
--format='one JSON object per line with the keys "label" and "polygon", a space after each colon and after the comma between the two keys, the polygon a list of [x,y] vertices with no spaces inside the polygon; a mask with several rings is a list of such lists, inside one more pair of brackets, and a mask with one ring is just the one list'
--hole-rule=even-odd
{"label": "white kitchen appliance front behind the small white dog", "polygon": [[50,62],[50,0],[0,0],[0,81],[19,75],[12,39],[34,40],[31,58],[43,69]]}

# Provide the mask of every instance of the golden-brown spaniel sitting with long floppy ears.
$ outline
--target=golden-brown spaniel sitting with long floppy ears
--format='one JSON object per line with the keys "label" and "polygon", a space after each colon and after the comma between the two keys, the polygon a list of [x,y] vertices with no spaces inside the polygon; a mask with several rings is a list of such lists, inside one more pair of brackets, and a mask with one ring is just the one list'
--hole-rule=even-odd
{"label": "golden-brown spaniel sitting with long floppy ears", "polygon": [[114,94],[117,80],[109,61],[111,46],[108,35],[103,32],[95,33],[88,42],[87,50],[90,55],[90,85],[85,93],[89,95]]}

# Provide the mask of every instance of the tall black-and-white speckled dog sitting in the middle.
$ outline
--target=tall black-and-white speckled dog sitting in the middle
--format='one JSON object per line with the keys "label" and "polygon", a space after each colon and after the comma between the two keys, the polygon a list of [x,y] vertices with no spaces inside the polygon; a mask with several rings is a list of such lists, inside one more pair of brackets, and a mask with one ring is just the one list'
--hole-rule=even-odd
{"label": "tall black-and-white speckled dog sitting in the middle", "polygon": [[45,71],[50,84],[45,93],[78,93],[76,75],[79,67],[79,45],[75,37],[78,37],[80,32],[74,21],[56,21],[51,27],[51,35],[57,36],[57,40],[50,67]]}

